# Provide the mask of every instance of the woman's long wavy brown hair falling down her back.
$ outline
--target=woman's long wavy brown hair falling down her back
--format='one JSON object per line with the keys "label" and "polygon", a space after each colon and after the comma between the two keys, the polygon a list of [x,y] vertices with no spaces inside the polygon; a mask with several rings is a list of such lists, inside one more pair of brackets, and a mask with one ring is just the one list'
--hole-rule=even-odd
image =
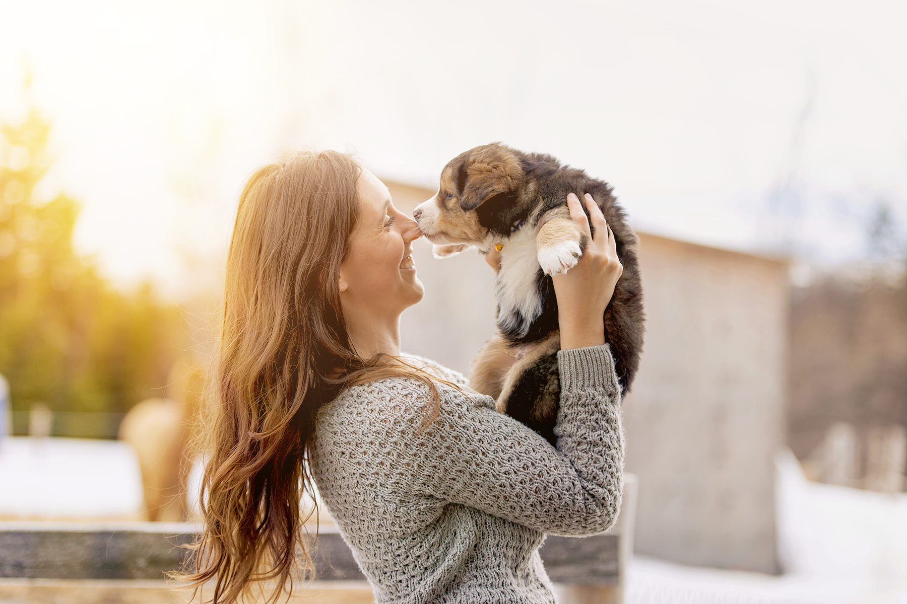
{"label": "woman's long wavy brown hair falling down her back", "polygon": [[313,489],[319,407],[343,388],[405,376],[430,388],[424,426],[437,415],[427,374],[387,355],[359,358],[346,332],[337,283],[361,173],[343,153],[298,153],[259,168],[239,197],[204,427],[205,528],[177,576],[196,592],[213,580],[213,602],[232,604],[262,581],[276,601],[297,570],[313,575],[300,498]]}

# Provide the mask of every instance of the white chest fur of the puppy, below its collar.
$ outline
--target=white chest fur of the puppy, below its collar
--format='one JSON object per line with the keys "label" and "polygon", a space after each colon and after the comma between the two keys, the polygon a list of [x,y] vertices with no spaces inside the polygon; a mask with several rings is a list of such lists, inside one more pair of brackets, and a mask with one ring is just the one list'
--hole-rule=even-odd
{"label": "white chest fur of the puppy, below its collar", "polygon": [[505,329],[520,326],[521,335],[529,332],[529,325],[541,314],[541,297],[535,284],[539,260],[535,249],[535,229],[524,228],[512,235],[501,250],[501,271],[495,283],[497,290],[498,320]]}

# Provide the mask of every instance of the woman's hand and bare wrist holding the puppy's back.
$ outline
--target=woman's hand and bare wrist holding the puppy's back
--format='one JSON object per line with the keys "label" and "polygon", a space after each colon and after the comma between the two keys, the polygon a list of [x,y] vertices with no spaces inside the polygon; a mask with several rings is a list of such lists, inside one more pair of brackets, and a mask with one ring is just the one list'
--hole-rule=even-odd
{"label": "woman's hand and bare wrist holding the puppy's back", "polygon": [[592,196],[586,194],[586,207],[589,208],[590,219],[595,227],[594,238],[591,236],[590,220],[580,206],[580,199],[571,193],[567,196],[567,206],[571,218],[580,224],[589,237],[589,244],[576,266],[567,273],[551,276],[558,299],[561,350],[605,343],[602,316],[614,294],[614,286],[623,273],[614,234]]}

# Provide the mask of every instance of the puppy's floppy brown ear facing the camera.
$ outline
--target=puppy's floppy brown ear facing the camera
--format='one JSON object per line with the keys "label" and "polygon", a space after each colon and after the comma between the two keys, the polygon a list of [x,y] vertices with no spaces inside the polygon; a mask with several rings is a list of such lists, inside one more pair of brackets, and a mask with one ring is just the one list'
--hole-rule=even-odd
{"label": "puppy's floppy brown ear facing the camera", "polygon": [[521,178],[520,160],[512,151],[502,145],[488,145],[457,173],[457,185],[463,183],[460,207],[474,210],[495,195],[515,190]]}

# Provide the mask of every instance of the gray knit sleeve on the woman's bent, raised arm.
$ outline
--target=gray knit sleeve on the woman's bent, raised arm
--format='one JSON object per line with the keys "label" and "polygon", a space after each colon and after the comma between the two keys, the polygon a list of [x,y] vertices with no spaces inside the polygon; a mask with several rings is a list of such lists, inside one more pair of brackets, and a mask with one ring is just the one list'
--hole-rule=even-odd
{"label": "gray knit sleeve on the woman's bent, raised arm", "polygon": [[392,427],[395,465],[412,471],[405,482],[413,494],[462,503],[541,532],[607,530],[619,511],[623,473],[614,361],[604,345],[561,350],[558,362],[556,447],[487,401],[476,404],[453,388],[439,388],[439,414],[422,432],[426,389],[416,390],[417,400],[402,401],[408,411]]}

